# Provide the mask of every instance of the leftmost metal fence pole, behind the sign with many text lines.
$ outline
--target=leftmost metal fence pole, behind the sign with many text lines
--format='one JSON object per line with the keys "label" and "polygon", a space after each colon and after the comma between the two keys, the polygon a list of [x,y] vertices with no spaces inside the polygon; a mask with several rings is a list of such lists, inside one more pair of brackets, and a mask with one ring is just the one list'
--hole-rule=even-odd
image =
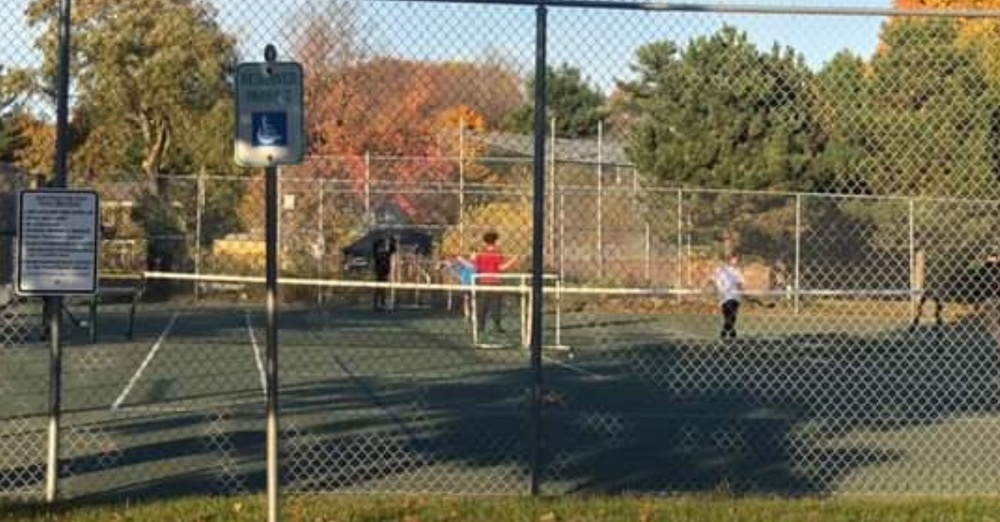
{"label": "leftmost metal fence pole, behind the sign with many text lines", "polygon": [[[69,61],[72,29],[71,0],[59,2],[59,64],[56,75],[56,157],[52,187],[69,185]],[[45,469],[45,500],[59,496],[59,424],[62,414],[62,296],[46,298],[45,318],[49,330],[49,440]]]}

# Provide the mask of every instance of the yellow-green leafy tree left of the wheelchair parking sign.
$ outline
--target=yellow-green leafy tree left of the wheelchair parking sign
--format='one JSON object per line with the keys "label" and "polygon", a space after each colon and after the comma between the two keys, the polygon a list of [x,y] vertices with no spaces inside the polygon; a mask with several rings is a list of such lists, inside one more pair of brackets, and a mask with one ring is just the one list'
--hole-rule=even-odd
{"label": "yellow-green leafy tree left of the wheelchair parking sign", "polygon": [[[52,85],[57,2],[32,0],[27,15],[32,27],[42,29],[41,83]],[[224,107],[231,105],[235,40],[215,16],[204,0],[90,0],[74,6],[75,170],[138,170],[155,195],[165,186],[158,182],[163,174],[191,164],[213,170],[229,164],[228,154],[201,155],[209,141],[204,129],[231,122]],[[231,143],[227,133],[211,140]]]}

